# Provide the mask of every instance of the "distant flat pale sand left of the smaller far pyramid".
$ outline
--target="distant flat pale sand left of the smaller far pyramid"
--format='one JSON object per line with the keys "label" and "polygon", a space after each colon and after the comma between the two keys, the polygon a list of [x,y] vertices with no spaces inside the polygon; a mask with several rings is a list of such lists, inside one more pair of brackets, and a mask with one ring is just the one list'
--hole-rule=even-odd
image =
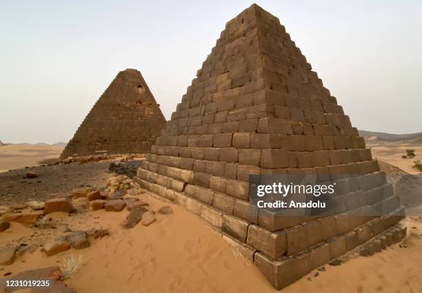
{"label": "distant flat pale sand left of the smaller far pyramid", "polygon": [[63,147],[51,145],[0,146],[0,172],[39,165],[43,159],[58,158]]}

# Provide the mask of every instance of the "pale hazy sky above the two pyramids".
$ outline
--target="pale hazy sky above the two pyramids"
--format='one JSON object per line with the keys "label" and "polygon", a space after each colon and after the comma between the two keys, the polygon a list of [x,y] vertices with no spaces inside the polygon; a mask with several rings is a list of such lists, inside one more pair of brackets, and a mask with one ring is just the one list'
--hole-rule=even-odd
{"label": "pale hazy sky above the two pyramids", "polygon": [[[0,140],[68,141],[117,72],[166,119],[252,1],[0,1]],[[359,129],[422,131],[422,1],[257,1]]]}

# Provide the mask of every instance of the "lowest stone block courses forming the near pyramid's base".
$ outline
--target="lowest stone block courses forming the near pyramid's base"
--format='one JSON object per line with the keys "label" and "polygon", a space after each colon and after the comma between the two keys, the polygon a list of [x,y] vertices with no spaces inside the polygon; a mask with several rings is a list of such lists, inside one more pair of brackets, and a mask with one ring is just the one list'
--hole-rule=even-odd
{"label": "lowest stone block courses forming the near pyramid's base", "polygon": [[[396,210],[363,223],[363,225],[359,225],[359,227],[343,235],[334,236],[328,241],[308,247],[297,254],[274,259],[272,256],[245,243],[246,235],[243,239],[242,237],[239,238],[239,235],[242,234],[242,222],[240,219],[239,222],[232,222],[232,228],[228,231],[223,225],[223,217],[229,216],[228,214],[201,201],[197,201],[197,199],[193,199],[182,192],[148,182],[137,176],[133,177],[133,181],[139,184],[141,188],[183,205],[190,212],[205,219],[212,228],[221,232],[221,236],[236,247],[237,251],[245,259],[257,265],[265,278],[277,290],[283,289],[283,287],[297,281],[311,270],[339,258],[348,251],[358,250],[370,254],[370,251],[376,251],[377,247],[380,247],[379,249],[381,250],[380,243],[383,246],[392,245],[403,240],[406,234],[407,227],[401,223],[405,219],[405,210],[402,206],[399,206]],[[248,225],[246,226],[246,231],[248,232]]]}

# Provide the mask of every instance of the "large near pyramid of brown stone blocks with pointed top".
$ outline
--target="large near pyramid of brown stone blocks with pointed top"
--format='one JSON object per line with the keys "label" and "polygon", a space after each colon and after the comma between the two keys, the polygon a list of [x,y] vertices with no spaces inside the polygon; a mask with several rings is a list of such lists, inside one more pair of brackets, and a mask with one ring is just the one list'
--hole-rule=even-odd
{"label": "large near pyramid of brown stone blocks with pointed top", "polygon": [[[332,182],[330,210],[257,206],[251,190],[272,176]],[[134,180],[223,232],[277,289],[403,237],[403,207],[365,141],[256,4],[226,24]]]}

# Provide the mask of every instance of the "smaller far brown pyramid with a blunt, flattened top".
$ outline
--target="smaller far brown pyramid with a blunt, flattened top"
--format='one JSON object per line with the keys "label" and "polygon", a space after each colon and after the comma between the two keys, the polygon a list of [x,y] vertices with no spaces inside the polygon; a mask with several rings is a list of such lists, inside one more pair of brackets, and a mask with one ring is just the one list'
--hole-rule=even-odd
{"label": "smaller far brown pyramid with a blunt, flattened top", "polygon": [[150,150],[165,118],[141,72],[126,69],[114,78],[61,154],[130,154]]}

